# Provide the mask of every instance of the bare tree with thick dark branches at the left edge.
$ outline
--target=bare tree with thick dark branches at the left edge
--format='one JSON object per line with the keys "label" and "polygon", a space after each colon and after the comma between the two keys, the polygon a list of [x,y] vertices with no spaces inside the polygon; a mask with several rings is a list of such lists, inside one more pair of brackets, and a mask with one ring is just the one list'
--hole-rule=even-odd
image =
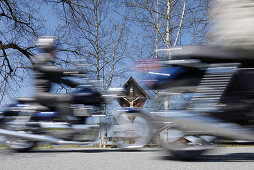
{"label": "bare tree with thick dark branches at the left edge", "polygon": [[43,19],[34,1],[0,1],[0,101],[16,96],[26,70],[30,68],[34,39]]}

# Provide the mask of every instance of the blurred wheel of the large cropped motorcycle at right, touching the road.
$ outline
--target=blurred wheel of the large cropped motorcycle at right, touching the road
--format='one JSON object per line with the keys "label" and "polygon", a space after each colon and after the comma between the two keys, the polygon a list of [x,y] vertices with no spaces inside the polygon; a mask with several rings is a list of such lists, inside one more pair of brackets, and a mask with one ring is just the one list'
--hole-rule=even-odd
{"label": "blurred wheel of the large cropped motorcycle at right, touching the road", "polygon": [[175,159],[186,160],[195,159],[204,152],[214,148],[214,145],[208,143],[201,137],[195,137],[198,139],[195,142],[186,142],[187,136],[178,139],[172,143],[163,142],[163,148],[169,152]]}

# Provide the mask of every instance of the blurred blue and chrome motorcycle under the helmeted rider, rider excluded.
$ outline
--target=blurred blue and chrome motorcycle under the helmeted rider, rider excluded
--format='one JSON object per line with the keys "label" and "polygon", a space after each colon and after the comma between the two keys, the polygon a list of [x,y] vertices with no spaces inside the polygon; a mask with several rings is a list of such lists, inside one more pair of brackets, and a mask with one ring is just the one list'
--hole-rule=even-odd
{"label": "blurred blue and chrome motorcycle under the helmeted rider, rider excluded", "polygon": [[[84,78],[82,74],[75,76]],[[126,149],[142,147],[146,142],[141,144],[140,140],[137,140],[140,139],[136,135],[137,128],[134,128],[133,124],[129,126],[128,120],[123,119],[122,111],[113,115],[114,122],[107,125],[106,122],[98,123],[98,118],[105,116],[103,105],[123,94],[122,88],[110,88],[105,94],[101,94],[94,83],[81,83],[71,93],[73,115],[67,116],[68,121],[63,120],[56,109],[40,105],[36,98],[18,98],[16,103],[8,105],[1,112],[0,135],[6,138],[8,148],[25,152],[40,143],[90,145],[98,140],[101,129],[110,126],[113,134],[118,136],[116,137],[118,147]],[[123,131],[124,134],[128,131],[129,137],[119,137]],[[123,145],[124,143],[128,145]]]}

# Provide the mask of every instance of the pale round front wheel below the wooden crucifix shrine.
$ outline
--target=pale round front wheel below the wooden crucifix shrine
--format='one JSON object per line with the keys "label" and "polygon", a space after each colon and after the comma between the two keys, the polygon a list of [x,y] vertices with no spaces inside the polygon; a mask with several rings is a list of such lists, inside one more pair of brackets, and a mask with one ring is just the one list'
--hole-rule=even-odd
{"label": "pale round front wheel below the wooden crucifix shrine", "polygon": [[150,142],[152,128],[146,115],[121,113],[117,119],[118,125],[113,128],[113,137],[118,148],[137,149]]}

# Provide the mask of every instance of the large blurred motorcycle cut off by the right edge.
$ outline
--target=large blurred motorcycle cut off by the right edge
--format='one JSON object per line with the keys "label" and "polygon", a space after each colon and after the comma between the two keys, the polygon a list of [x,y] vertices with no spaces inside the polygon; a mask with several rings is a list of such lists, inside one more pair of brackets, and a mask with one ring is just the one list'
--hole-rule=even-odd
{"label": "large blurred motorcycle cut off by the right edge", "polygon": [[[160,50],[164,60],[149,70],[149,87],[161,94],[192,93],[184,108],[156,111],[182,139],[162,141],[179,159],[195,158],[219,140],[254,141],[254,58],[219,47]],[[156,68],[156,69],[155,69]]]}

